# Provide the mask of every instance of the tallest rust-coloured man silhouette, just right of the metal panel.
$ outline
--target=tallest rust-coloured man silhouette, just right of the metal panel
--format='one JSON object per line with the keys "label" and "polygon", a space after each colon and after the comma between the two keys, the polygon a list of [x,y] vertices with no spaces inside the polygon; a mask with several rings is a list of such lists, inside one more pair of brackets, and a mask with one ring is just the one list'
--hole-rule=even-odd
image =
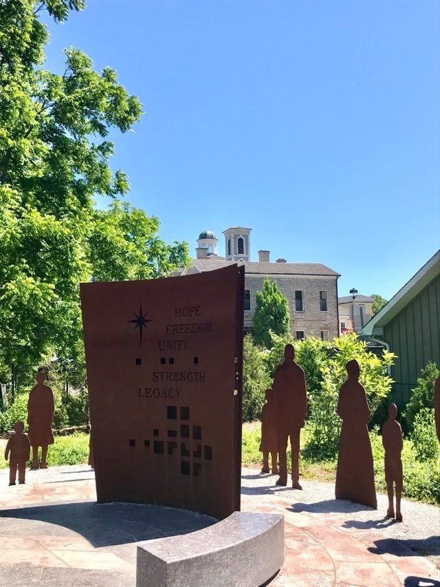
{"label": "tallest rust-coloured man silhouette, just right of the metal panel", "polygon": [[277,485],[287,485],[287,442],[292,447],[292,487],[303,489],[299,482],[298,458],[300,452],[300,429],[307,416],[307,392],[305,374],[294,361],[295,349],[288,344],[284,350],[284,361],[276,367],[274,374],[274,404],[278,427],[278,454],[280,477]]}

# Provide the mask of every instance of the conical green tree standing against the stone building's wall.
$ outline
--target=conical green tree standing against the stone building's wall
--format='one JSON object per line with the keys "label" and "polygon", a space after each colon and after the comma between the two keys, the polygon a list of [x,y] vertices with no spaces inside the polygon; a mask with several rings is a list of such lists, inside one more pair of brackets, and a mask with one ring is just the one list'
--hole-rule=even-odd
{"label": "conical green tree standing against the stone building's wall", "polygon": [[281,292],[276,281],[266,277],[263,290],[256,293],[254,314],[254,341],[266,348],[272,345],[271,332],[275,334],[289,333],[289,302]]}

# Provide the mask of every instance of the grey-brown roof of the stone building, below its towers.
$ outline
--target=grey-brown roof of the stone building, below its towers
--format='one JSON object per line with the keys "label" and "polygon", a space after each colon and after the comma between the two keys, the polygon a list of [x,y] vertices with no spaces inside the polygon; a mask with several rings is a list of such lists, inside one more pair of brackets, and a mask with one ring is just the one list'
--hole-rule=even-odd
{"label": "grey-brown roof of the stone building, below its towers", "polygon": [[184,270],[179,275],[190,275],[191,273],[202,273],[213,271],[230,265],[238,264],[245,266],[245,273],[248,275],[325,275],[340,277],[339,273],[320,263],[269,263],[252,261],[227,261],[219,257],[207,257],[205,259],[192,259],[192,268]]}

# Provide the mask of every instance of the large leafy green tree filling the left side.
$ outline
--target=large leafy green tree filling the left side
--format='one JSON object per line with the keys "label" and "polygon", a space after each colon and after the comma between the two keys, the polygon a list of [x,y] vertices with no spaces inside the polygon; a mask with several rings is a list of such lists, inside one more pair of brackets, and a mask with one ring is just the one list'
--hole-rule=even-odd
{"label": "large leafy green tree filling the left side", "polygon": [[[0,381],[10,365],[81,353],[78,285],[167,275],[186,244],[166,245],[159,222],[118,198],[111,128],[126,132],[142,105],[114,70],[75,48],[63,75],[43,69],[46,10],[56,22],[85,0],[0,0]],[[113,205],[98,211],[94,198]]]}

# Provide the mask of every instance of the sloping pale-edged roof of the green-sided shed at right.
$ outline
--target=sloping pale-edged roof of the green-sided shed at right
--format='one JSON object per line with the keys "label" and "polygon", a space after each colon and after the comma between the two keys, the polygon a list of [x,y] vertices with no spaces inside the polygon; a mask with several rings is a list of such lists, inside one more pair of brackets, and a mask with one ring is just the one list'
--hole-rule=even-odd
{"label": "sloping pale-edged roof of the green-sided shed at right", "polygon": [[368,334],[369,336],[382,334],[384,326],[391,322],[405,306],[408,306],[408,303],[419,295],[438,275],[440,275],[440,250],[437,250],[437,253],[432,255],[429,261],[411,277],[403,288],[399,289],[397,294],[364,325],[362,334]]}

